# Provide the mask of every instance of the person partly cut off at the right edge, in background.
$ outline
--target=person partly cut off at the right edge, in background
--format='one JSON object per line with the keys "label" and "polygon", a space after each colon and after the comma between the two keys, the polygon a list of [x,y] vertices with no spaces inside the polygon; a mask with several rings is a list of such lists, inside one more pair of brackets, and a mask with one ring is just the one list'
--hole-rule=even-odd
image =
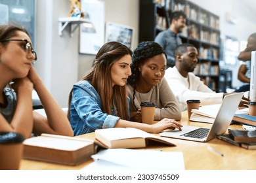
{"label": "person partly cut off at the right edge, in background", "polygon": [[251,52],[256,50],[256,33],[251,34],[247,39],[247,45],[244,51],[240,52],[238,59],[243,61],[238,70],[238,80],[245,84],[235,92],[246,92],[250,90],[251,77]]}

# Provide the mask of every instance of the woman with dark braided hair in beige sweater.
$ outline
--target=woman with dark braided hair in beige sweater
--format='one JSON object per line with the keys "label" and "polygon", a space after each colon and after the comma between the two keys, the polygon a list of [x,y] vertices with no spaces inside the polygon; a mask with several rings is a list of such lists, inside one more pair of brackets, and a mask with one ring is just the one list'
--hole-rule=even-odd
{"label": "woman with dark braided hair in beige sweater", "polygon": [[166,66],[165,51],[154,41],[140,42],[133,52],[132,75],[127,80],[132,121],[141,122],[141,102],[156,103],[155,121],[163,118],[181,120],[179,103],[163,78]]}

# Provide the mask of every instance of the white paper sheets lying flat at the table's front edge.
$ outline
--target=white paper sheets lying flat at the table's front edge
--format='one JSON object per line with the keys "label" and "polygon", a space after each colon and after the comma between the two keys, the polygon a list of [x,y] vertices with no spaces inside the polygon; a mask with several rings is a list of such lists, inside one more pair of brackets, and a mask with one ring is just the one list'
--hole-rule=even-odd
{"label": "white paper sheets lying flat at the table's front edge", "polygon": [[182,152],[117,148],[102,150],[92,158],[95,161],[83,169],[184,170]]}

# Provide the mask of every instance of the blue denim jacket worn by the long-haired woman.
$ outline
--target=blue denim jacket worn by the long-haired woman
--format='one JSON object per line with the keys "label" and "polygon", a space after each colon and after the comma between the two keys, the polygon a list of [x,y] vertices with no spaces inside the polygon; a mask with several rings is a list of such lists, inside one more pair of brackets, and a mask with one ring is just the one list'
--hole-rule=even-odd
{"label": "blue denim jacket worn by the long-haired woman", "polygon": [[87,80],[74,84],[70,103],[70,124],[75,136],[93,132],[95,129],[115,127],[119,119],[118,116],[102,112],[100,95]]}

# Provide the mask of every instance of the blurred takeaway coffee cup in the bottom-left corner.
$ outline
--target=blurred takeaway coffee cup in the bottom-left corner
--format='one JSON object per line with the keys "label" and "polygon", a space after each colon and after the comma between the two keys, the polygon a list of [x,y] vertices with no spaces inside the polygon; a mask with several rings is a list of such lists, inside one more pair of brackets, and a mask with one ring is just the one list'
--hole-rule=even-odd
{"label": "blurred takeaway coffee cup in the bottom-left corner", "polygon": [[18,170],[24,137],[19,133],[0,132],[0,170]]}

